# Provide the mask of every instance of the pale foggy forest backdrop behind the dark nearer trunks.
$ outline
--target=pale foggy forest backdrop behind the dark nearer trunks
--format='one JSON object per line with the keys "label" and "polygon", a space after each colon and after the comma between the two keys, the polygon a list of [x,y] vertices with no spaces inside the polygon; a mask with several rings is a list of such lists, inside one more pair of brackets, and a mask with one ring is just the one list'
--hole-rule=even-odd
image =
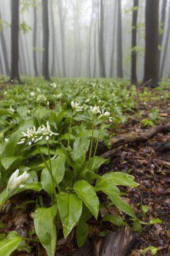
{"label": "pale foggy forest backdrop behind the dark nearer trunks", "polygon": [[[15,1],[15,0],[13,0]],[[132,38],[132,0],[103,1],[103,58],[105,77],[117,77],[118,33],[122,34],[123,77],[130,78]],[[147,1],[147,0],[146,0]],[[55,77],[101,77],[99,71],[99,0],[49,0],[49,73]],[[33,4],[34,3],[34,4]],[[144,9],[145,1],[138,1],[137,17],[137,76],[144,75]],[[153,1],[154,5],[154,1]],[[161,51],[162,76],[170,76],[169,15],[167,0],[165,28],[162,30],[159,1],[159,33],[163,35]],[[122,28],[120,19],[122,20]],[[0,1],[0,72],[9,75],[5,67],[5,39],[7,62],[11,63],[11,0]],[[36,31],[36,36],[35,36]],[[2,35],[3,34],[3,35]],[[36,38],[36,39],[35,39]],[[167,49],[165,47],[166,43]],[[43,55],[42,1],[19,1],[19,74],[35,75],[34,56],[38,74],[42,75]],[[166,51],[166,53],[165,53]],[[165,56],[164,56],[165,55]]]}

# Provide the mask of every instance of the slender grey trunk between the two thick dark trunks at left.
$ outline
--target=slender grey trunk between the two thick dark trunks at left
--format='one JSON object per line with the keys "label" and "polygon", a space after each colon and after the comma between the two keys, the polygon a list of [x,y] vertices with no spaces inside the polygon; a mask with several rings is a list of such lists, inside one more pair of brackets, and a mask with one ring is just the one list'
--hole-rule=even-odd
{"label": "slender grey trunk between the two thick dark trunks at left", "polygon": [[33,30],[33,61],[34,61],[34,73],[38,76],[38,66],[37,66],[37,59],[36,59],[36,36],[37,36],[37,9],[33,7],[34,12],[34,30]]}

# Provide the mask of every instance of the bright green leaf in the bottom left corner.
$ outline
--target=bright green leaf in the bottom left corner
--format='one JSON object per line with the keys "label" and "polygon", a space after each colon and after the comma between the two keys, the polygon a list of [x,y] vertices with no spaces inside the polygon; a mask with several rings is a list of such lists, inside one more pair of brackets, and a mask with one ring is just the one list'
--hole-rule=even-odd
{"label": "bright green leaf in the bottom left corner", "polygon": [[9,256],[22,242],[22,237],[15,231],[9,232],[7,237],[0,241],[0,253],[3,256]]}

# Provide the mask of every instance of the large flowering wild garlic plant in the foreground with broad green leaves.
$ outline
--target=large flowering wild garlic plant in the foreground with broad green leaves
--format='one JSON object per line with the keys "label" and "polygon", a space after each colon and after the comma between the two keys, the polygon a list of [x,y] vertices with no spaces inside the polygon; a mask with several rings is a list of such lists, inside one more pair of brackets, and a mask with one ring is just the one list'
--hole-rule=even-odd
{"label": "large flowering wild garlic plant in the foreground with broad green leaves", "polygon": [[[73,126],[73,119],[75,124],[77,113],[87,115],[91,129],[81,131],[80,122],[77,127]],[[79,102],[72,101],[71,117],[67,127],[69,135],[63,137],[63,140],[67,139],[67,146],[62,143],[62,134],[52,131],[49,121],[38,128],[34,126],[32,129],[28,128],[26,132],[22,131],[23,136],[17,141],[17,146],[23,150],[30,147],[34,151],[36,148],[42,163],[39,164],[38,169],[37,166],[32,166],[31,170],[19,176],[19,170],[16,170],[9,178],[7,188],[0,194],[0,204],[2,207],[9,197],[26,189],[46,191],[51,199],[50,207],[38,207],[35,210],[34,226],[36,235],[48,256],[55,255],[57,236],[61,234],[60,222],[65,238],[73,228],[76,228],[77,245],[81,247],[85,243],[88,236],[86,222],[92,217],[97,219],[99,204],[102,203],[99,201],[99,191],[105,193],[120,211],[136,220],[130,205],[122,201],[117,187],[118,185],[137,187],[134,177],[122,172],[108,172],[102,176],[97,174],[101,164],[108,162],[95,156],[99,138],[103,138],[102,127],[106,121],[112,122],[107,110],[96,105],[85,110]],[[62,127],[65,125],[64,122],[63,119]],[[81,123],[83,122],[85,121]],[[96,124],[100,125],[99,129],[95,129]],[[96,143],[92,155],[94,139]],[[89,158],[87,158],[88,154]],[[40,178],[37,177],[36,181],[35,172],[40,172]],[[116,216],[114,217],[116,219]],[[120,216],[116,224],[118,226],[123,224]]]}

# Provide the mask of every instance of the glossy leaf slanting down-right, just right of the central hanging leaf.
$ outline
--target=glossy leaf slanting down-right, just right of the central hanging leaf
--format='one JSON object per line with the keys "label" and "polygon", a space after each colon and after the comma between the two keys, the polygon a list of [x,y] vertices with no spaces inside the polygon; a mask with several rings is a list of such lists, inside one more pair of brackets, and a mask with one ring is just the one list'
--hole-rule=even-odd
{"label": "glossy leaf slanting down-right, just right of the central hanging leaf", "polygon": [[99,212],[99,199],[93,187],[86,181],[76,181],[73,187],[78,197],[83,200],[93,216],[97,219]]}

